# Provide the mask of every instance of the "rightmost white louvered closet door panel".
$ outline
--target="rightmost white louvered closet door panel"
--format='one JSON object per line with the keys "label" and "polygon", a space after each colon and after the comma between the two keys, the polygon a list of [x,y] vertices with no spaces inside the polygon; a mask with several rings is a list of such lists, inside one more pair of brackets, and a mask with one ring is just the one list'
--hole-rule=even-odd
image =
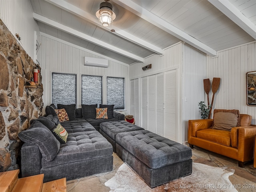
{"label": "rightmost white louvered closet door panel", "polygon": [[164,137],[176,141],[176,70],[164,74]]}

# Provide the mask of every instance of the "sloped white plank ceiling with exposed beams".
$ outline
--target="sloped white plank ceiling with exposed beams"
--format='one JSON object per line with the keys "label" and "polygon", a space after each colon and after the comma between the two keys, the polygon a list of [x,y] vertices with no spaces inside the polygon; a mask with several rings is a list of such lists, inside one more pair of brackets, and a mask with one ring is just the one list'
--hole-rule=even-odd
{"label": "sloped white plank ceiling with exposed beams", "polygon": [[101,2],[30,0],[40,32],[127,64],[181,40],[212,56],[256,40],[256,0],[110,0],[107,28],[95,16]]}

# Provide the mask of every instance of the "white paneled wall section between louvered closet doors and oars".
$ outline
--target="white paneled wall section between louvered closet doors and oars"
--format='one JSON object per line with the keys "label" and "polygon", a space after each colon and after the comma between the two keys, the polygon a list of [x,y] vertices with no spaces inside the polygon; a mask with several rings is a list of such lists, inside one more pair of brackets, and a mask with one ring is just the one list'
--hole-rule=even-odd
{"label": "white paneled wall section between louvered closet doors and oars", "polygon": [[184,44],[182,75],[183,142],[188,140],[188,120],[201,119],[198,103],[205,101],[207,105],[203,84],[203,79],[205,78],[206,55]]}

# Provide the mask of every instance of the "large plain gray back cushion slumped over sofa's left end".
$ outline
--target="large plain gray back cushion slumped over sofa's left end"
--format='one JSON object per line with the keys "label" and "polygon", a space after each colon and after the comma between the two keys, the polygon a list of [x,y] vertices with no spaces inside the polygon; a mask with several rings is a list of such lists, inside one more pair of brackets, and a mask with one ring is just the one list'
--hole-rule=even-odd
{"label": "large plain gray back cushion slumped over sofa's left end", "polygon": [[37,145],[45,161],[54,159],[60,148],[60,142],[52,132],[39,121],[32,122],[30,128],[18,134],[20,140]]}

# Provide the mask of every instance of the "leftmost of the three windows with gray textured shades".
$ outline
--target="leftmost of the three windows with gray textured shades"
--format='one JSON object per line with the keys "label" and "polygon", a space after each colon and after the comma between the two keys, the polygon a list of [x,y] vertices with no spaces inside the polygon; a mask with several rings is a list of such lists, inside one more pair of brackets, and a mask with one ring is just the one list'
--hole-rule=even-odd
{"label": "leftmost of the three windows with gray textured shades", "polygon": [[52,73],[52,103],[76,104],[76,74]]}

